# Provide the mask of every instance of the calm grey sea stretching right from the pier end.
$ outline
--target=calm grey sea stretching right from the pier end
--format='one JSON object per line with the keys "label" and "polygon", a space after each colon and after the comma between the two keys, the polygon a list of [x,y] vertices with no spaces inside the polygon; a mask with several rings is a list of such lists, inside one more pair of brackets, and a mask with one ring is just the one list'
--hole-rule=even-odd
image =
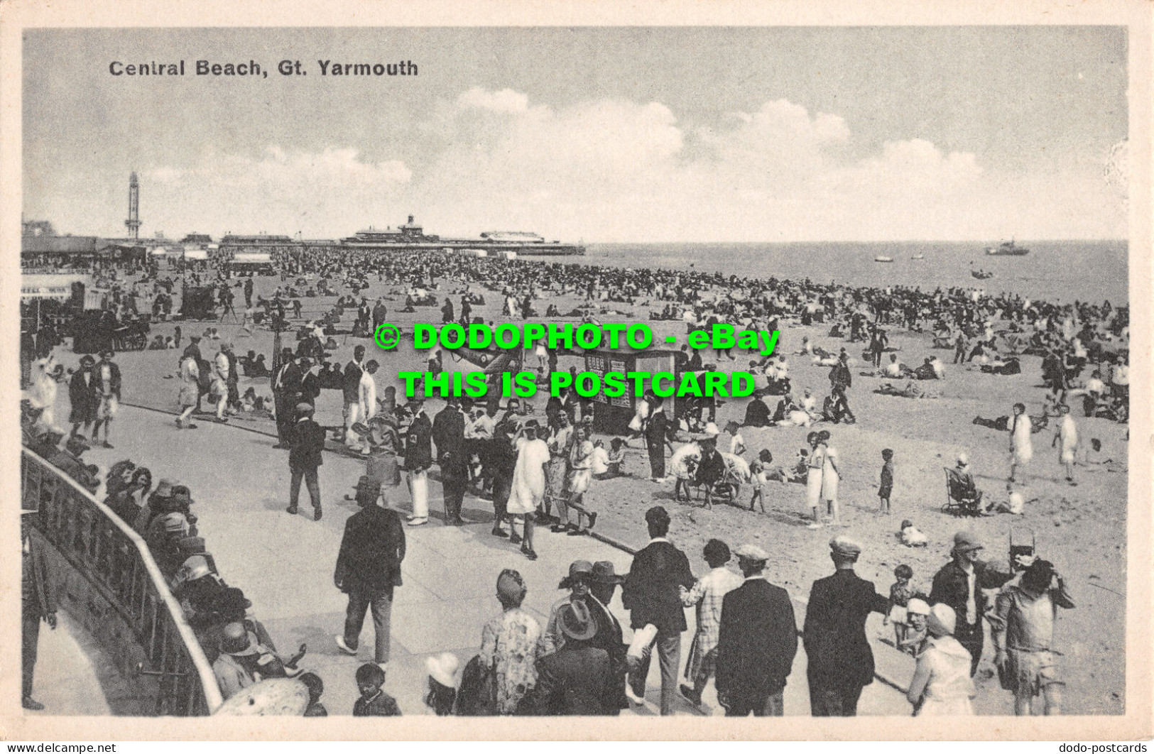
{"label": "calm grey sea stretching right from the pier end", "polygon": [[[983,243],[594,243],[582,262],[779,277],[847,285],[981,287],[1048,301],[1129,301],[1126,241],[1018,241],[1024,257],[986,256]],[[924,259],[911,257],[924,254]],[[892,263],[874,262],[878,255]],[[577,257],[550,261],[578,261]],[[969,271],[995,273],[976,280]]]}

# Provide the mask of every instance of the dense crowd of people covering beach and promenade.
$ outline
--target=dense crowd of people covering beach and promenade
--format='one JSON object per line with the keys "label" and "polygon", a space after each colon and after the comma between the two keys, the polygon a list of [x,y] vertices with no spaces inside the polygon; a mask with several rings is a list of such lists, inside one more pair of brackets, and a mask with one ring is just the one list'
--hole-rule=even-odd
{"label": "dense crowd of people covering beach and promenade", "polygon": [[[974,420],[1009,435],[1011,487],[1004,510],[1010,513],[1021,512],[1021,492],[1033,457],[1032,435],[1050,422],[1056,424],[1052,445],[1058,447],[1066,482],[1077,484],[1074,469],[1079,459],[1086,459],[1087,450],[1071,412],[1074,401],[1087,417],[1125,422],[1129,416],[1129,308],[1109,302],[1057,304],[964,288],[870,288],[440,251],[399,256],[334,247],[286,248],[273,254],[273,264],[282,285],[270,297],[254,297],[252,278],[233,279],[223,269],[215,274],[205,272],[203,279],[194,273],[194,284],[211,288],[222,321],[231,312],[242,332],[252,334],[264,327],[277,334],[277,342],[293,334],[297,340],[295,347],[275,348],[267,363],[263,354],[254,352],[238,357],[232,344],[215,329],[192,335],[174,375],[180,407],[175,422],[181,429],[195,428],[192,420],[202,414],[205,397],[217,421],[226,422],[245,412],[275,420],[276,447],[288,451],[287,512],[298,512],[304,483],[317,520],[322,518],[317,467],[324,452],[338,450],[365,460],[365,475],[353,498],[361,511],[346,525],[335,575],[336,586],[349,595],[345,629],[336,638],[338,647],[357,654],[366,612],[372,613],[376,629],[375,662],[357,671],[361,700],[354,715],[399,714],[382,689],[405,527],[397,512],[377,503],[404,480],[412,499],[407,526],[426,525],[434,466],[443,487],[447,525],[467,522],[463,503],[471,491],[492,500],[493,536],[519,545],[530,560],[538,557],[534,527],[549,526],[554,533],[572,536],[594,529],[598,511],[589,502],[591,485],[622,475],[625,454],[636,440],[647,454],[651,478],[674,478],[677,500],[697,497],[709,507],[719,500],[744,507],[740,493],[749,485],[749,510],[760,504],[764,512],[772,484],[796,483],[805,488],[809,528],[844,526],[839,511],[842,469],[830,430],[811,431],[807,447],[799,450],[789,466],[775,465],[769,450],[747,447],[741,430],[856,423],[849,395],[859,360],[847,350],[855,342],[862,345],[862,361],[874,369],[862,375],[906,380],[902,387],[883,384],[878,392],[932,397],[926,385],[947,378],[943,360],[929,355],[912,369],[899,362],[897,353],[890,353],[885,363],[887,327],[927,333],[935,347],[954,352],[954,364],[975,362],[982,371],[996,375],[1020,372],[1022,355],[1042,357],[1046,408],[1040,417],[1026,414],[1025,405],[1018,404],[1011,415]],[[430,301],[437,304],[433,292],[441,286],[436,281],[448,280],[457,286],[450,293],[459,296],[459,307],[445,299],[445,322],[473,322],[474,306],[484,302],[474,288],[484,288],[500,294],[504,316],[514,319],[535,315],[534,302],[569,295],[584,300],[570,314],[591,322],[621,304],[650,307],[654,319],[680,321],[689,332],[722,322],[765,331],[793,322],[827,324],[830,337],[844,339],[847,347],[831,353],[807,338],[800,350],[788,354],[830,368],[830,393],[820,405],[812,390],[799,394],[793,389],[787,354],[751,361],[749,370],[758,376],[758,390],[745,407],[744,420],[729,422],[724,430],[715,423],[715,400],[679,401],[674,415],[667,415],[664,401],[652,392],[637,401],[628,435],[606,438],[594,437],[594,407],[574,391],[550,398],[541,415],[527,402],[516,398],[502,401],[493,394],[479,400],[450,398],[443,409],[429,416],[421,398],[402,402],[391,386],[377,390],[375,375],[382,363],[366,359],[362,345],[354,348],[344,368],[334,360],[338,349],[335,335],[370,338],[388,316],[383,297],[373,302],[359,295],[374,278],[405,289],[402,311],[429,306]],[[133,282],[112,279],[110,285],[118,317],[142,310],[151,312],[153,322],[171,316],[171,277],[162,279],[152,270]],[[238,287],[245,301],[243,322],[237,322],[233,308],[233,288]],[[301,297],[331,296],[345,288],[352,293],[342,295],[320,317],[302,316]],[[351,325],[347,314],[353,314]],[[45,332],[44,338],[59,340],[59,334]],[[219,341],[210,360],[201,350],[204,340]],[[156,348],[180,349],[181,341],[178,326],[174,337],[156,341]],[[51,346],[42,350],[30,398],[22,404],[25,445],[96,493],[99,469],[85,463],[82,455],[89,443],[112,447],[108,429],[121,398],[114,354],[102,352],[99,361],[84,356],[80,368],[68,375],[52,360]],[[542,374],[555,370],[561,356],[547,348],[534,355]],[[728,349],[713,356],[718,363],[736,359]],[[430,370],[440,370],[442,359],[442,354],[430,352]],[[715,363],[704,363],[700,352],[685,349],[676,368],[718,369]],[[264,398],[250,387],[241,395],[241,377],[267,378],[271,394]],[[73,424],[67,439],[66,432],[57,429],[53,414],[55,384],[66,378]],[[342,393],[343,427],[335,432],[314,421],[322,390]],[[729,436],[727,446],[721,442],[724,433]],[[1003,510],[1001,503],[982,500],[965,454],[953,472],[959,499],[975,503],[967,510],[975,514]],[[890,512],[893,484],[893,451],[886,448],[878,489],[883,513]],[[292,658],[277,655],[263,626],[246,612],[248,600],[216,573],[203,540],[196,536],[186,487],[162,480],[152,489],[149,469],[121,461],[105,476],[104,499],[149,544],[211,655],[226,695],[261,678],[295,676],[313,694],[308,714],[324,714],[320,678],[297,666],[305,648]],[[661,666],[662,714],[672,714],[679,694],[700,704],[710,678],[714,678],[719,700],[729,715],[782,714],[781,692],[793,666],[797,633],[788,595],[766,582],[762,573],[765,551],[754,544],[737,548],[739,575],[726,565],[733,555],[729,546],[710,541],[704,556],[711,571],[695,579],[684,553],[665,538],[669,523],[665,508],[654,506],[645,518],[651,542],[637,553],[632,570],[619,575],[607,561],[575,561],[560,587],[570,595],[554,606],[544,627],[522,609],[527,590],[524,578],[514,570],[503,571],[497,578],[502,613],[485,625],[480,651],[464,665],[459,684],[455,680],[459,669],[456,657],[429,659],[429,707],[437,714],[613,715],[644,698],[644,679],[655,650]],[[916,535],[916,528],[905,521],[902,542],[924,544]],[[960,531],[954,537],[953,560],[935,576],[930,594],[914,594],[904,587],[902,579],[908,586],[912,574],[902,571],[886,598],[853,573],[862,545],[838,535],[830,546],[835,573],[815,582],[802,631],[812,715],[855,714],[861,689],[874,677],[863,628],[870,612],[893,621],[896,646],[917,656],[908,688],[915,714],[972,711],[971,678],[983,653],[983,616],[992,627],[999,679],[1016,694],[1018,711],[1028,712],[1036,695],[1044,698],[1047,712],[1059,710],[1061,680],[1050,648],[1052,620],[1057,608],[1072,608],[1073,603],[1051,564],[1026,557],[1016,564],[1018,574],[997,572],[976,559],[981,544]],[[622,640],[621,619],[608,608],[617,586],[630,612],[631,644]],[[1001,589],[992,611],[987,610],[982,589]],[[683,610],[688,606],[697,610],[697,634],[685,668],[689,683],[679,687],[680,641],[687,627]]]}

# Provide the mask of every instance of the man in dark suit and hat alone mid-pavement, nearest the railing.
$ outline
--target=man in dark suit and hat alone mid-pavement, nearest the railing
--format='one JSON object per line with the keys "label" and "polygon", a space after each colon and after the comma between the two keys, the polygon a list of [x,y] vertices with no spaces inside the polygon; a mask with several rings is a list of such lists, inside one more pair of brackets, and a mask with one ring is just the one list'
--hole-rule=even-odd
{"label": "man in dark suit and hat alone mid-pavement, nearest the railing", "polygon": [[373,610],[376,633],[374,659],[381,670],[389,664],[389,619],[392,589],[400,586],[400,563],[405,559],[405,530],[396,511],[376,504],[381,485],[367,476],[357,483],[361,510],[345,522],[337,570],[332,582],[349,595],[345,632],[336,636],[342,651],[357,655],[365,611]]}

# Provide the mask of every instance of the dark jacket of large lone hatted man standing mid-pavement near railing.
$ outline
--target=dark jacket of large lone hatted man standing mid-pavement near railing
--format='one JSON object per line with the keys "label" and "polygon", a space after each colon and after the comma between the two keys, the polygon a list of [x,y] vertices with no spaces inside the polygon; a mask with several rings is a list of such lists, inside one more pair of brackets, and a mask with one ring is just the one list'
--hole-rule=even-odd
{"label": "dark jacket of large lone hatted man standing mid-pavement near railing", "polygon": [[400,586],[405,529],[396,511],[369,505],[349,517],[334,580],[342,591],[392,594]]}

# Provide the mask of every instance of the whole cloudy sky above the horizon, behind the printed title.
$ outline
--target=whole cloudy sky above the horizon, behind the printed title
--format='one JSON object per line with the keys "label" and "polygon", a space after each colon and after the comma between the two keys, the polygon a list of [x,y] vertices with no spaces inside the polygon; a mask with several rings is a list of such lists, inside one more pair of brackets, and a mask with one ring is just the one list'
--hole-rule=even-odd
{"label": "whole cloudy sky above the horizon, behind the printed title", "polygon": [[32,30],[23,211],[120,235],[136,169],[149,235],[1125,237],[1126,86],[1107,27]]}

